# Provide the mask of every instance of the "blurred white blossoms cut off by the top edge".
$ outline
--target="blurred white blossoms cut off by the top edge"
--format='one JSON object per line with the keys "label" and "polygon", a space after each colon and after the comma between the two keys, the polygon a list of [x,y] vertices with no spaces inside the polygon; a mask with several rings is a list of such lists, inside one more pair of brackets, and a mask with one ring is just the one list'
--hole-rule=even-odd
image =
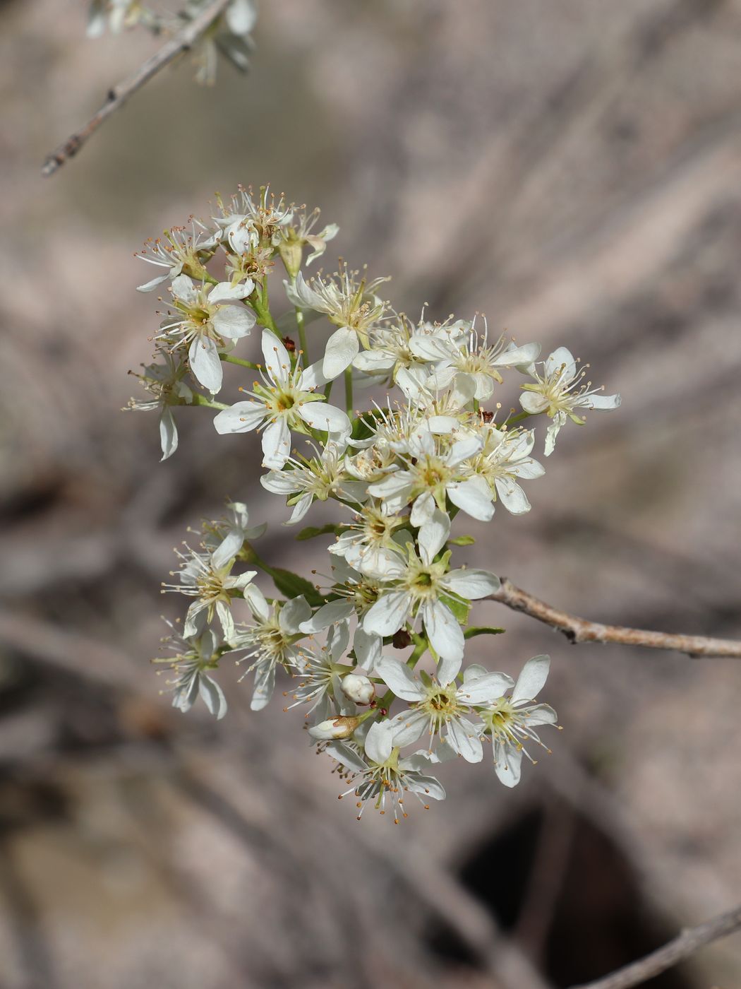
{"label": "blurred white blossoms cut off by the top edge", "polygon": [[[198,17],[208,0],[186,0],[177,14],[158,13],[141,0],[90,0],[88,38],[100,38],[108,29],[118,35],[130,28],[146,28],[153,35],[175,34]],[[198,82],[211,84],[216,76],[218,53],[241,71],[249,67],[253,49],[251,34],[257,21],[255,0],[229,0],[223,13],[199,39],[193,50]]]}

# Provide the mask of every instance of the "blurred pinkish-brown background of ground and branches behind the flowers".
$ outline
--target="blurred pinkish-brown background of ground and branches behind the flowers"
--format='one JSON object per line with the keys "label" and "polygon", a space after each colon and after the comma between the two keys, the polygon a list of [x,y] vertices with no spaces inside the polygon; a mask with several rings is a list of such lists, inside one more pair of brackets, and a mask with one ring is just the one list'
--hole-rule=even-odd
{"label": "blurred pinkish-brown background of ground and branches behind the flowers", "polygon": [[[0,987],[557,989],[733,905],[737,661],[483,603],[508,632],[468,658],[550,653],[565,730],[514,791],[447,766],[401,828],[338,803],[280,692],[253,714],[226,668],[224,721],[173,711],[148,660],[186,527],[228,494],[273,523],[264,555],[307,574],[321,547],[253,437],[182,409],[159,464],[156,418],[120,408],[157,325],[133,251],[270,182],[339,223],[327,267],[621,393],[564,429],[529,515],[470,527],[474,560],[590,618],[741,637],[741,2],[263,0],[248,77],[167,70],[41,180],[156,46],[88,41],[85,13],[0,4]],[[738,989],[741,940],[651,985]]]}

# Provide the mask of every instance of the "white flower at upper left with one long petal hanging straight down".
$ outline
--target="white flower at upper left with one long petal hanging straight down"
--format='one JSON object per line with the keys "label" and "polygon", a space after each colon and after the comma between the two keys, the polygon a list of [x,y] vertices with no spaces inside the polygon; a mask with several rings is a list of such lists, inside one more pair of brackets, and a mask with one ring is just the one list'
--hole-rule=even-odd
{"label": "white flower at upper left with one long petal hanging straight down", "polygon": [[221,389],[222,369],[219,352],[228,348],[226,341],[247,336],[256,316],[242,300],[252,294],[251,281],[241,285],[221,282],[196,288],[187,275],[173,279],[173,305],[178,311],[165,319],[158,334],[169,349],[188,349],[188,358],[196,380],[215,395]]}

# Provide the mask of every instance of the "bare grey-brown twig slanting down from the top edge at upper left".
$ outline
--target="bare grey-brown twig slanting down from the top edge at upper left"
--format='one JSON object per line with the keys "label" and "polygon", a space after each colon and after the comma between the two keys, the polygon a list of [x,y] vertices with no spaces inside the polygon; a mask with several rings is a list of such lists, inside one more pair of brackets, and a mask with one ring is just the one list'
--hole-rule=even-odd
{"label": "bare grey-brown twig slanting down from the top edge at upper left", "polygon": [[140,65],[136,71],[129,75],[127,79],[120,82],[113,89],[109,90],[106,102],[98,113],[94,114],[87,124],[76,131],[49,154],[41,168],[41,175],[53,175],[64,162],[73,157],[80,150],[82,145],[91,135],[95,134],[101,124],[115,113],[137,89],[140,89],[152,76],[156,75],[160,69],[184,51],[189,51],[198,39],[206,33],[218,15],[224,10],[228,0],[213,0],[204,11],[189,22],[183,30],[172,38],[166,45],[162,45],[151,57]]}

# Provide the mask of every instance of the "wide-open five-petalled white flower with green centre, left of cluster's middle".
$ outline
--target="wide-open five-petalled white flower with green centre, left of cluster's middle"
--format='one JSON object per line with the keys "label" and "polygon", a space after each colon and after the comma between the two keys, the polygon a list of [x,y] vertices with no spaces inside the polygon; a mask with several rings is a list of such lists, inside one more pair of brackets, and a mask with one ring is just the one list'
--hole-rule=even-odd
{"label": "wide-open five-petalled white flower with green centre, left of cluster's middle", "polygon": [[[255,383],[248,402],[237,402],[213,419],[218,433],[250,432],[266,426],[263,432],[263,466],[281,470],[290,452],[290,430],[323,429],[349,433],[350,419],[334,405],[327,405],[323,394],[314,390],[325,384],[319,363],[301,370],[296,361],[291,370],[288,350],[270,330],[263,331],[266,373],[263,384]],[[246,391],[246,390],[243,390]]]}

